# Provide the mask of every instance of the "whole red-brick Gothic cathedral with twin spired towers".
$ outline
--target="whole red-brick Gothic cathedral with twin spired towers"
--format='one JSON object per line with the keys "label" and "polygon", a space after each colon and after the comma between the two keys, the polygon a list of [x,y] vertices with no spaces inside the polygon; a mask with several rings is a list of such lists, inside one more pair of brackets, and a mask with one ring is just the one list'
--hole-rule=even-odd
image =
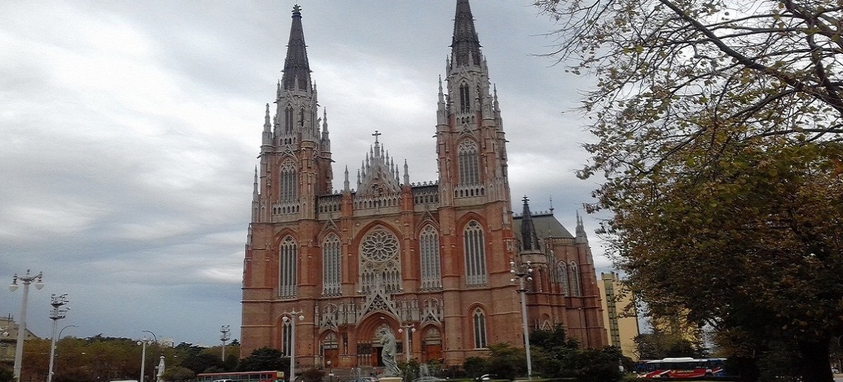
{"label": "whole red-brick Gothic cathedral with twin spired towers", "polygon": [[329,361],[376,368],[389,331],[399,361],[458,366],[493,343],[523,347],[522,294],[529,331],[561,324],[583,346],[606,345],[582,222],[572,235],[552,210],[530,213],[526,197],[512,212],[507,140],[474,22],[458,0],[431,128],[439,179],[411,184],[375,132],[362,167],[346,167],[333,191],[325,111],[293,8],[255,169],[242,357],[273,347],[294,352],[299,372]]}

